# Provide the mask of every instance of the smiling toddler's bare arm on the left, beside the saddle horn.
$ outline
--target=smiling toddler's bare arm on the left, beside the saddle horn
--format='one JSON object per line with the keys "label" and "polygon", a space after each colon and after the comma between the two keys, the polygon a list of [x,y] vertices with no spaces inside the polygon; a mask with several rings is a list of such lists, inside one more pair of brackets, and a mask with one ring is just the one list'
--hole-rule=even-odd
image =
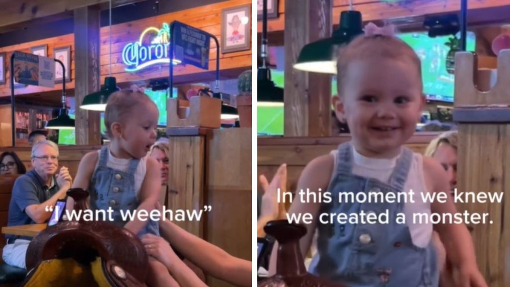
{"label": "smiling toddler's bare arm on the left, beside the saddle horn", "polygon": [[[323,155],[315,158],[308,163],[307,166],[305,166],[297,183],[297,190],[294,196],[294,201],[289,210],[289,217],[292,216],[292,214],[304,213],[311,213],[313,216],[311,224],[302,223],[307,228],[307,234],[301,237],[301,240],[299,241],[299,248],[303,256],[307,254],[310,249],[310,245],[312,244],[315,228],[317,226],[317,216],[319,213],[320,203],[301,201],[301,198],[298,196],[298,192],[299,190],[306,191],[307,189],[310,189],[311,193],[318,193],[319,188],[322,192],[325,192],[329,184],[329,180],[331,179],[331,174],[333,173],[333,164],[334,159],[332,155]],[[271,259],[269,261],[268,273],[270,276],[276,274],[277,250],[278,243],[275,242],[271,252]]]}

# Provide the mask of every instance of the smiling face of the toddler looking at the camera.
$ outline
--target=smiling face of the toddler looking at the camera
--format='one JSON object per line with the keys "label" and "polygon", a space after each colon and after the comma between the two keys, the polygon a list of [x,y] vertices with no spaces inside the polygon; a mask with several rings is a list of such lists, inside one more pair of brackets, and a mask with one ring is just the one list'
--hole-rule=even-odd
{"label": "smiling face of the toddler looking at the camera", "polygon": [[420,76],[410,61],[380,57],[348,66],[340,105],[358,152],[389,157],[416,129],[425,100]]}

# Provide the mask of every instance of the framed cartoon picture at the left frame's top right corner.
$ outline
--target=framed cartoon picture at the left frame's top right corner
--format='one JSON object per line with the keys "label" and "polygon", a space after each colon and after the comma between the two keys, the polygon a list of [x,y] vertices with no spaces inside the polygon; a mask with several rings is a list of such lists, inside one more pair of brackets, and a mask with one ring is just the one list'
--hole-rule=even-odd
{"label": "framed cartoon picture at the left frame's top right corner", "polygon": [[251,5],[221,11],[221,53],[250,50]]}

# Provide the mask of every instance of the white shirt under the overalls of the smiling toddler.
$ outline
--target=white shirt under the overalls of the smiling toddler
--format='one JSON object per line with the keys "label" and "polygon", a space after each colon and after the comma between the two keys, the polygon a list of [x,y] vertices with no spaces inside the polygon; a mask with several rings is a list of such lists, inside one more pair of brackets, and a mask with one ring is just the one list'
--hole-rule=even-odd
{"label": "white shirt under the overalls of the smiling toddler", "polygon": [[[354,148],[352,157],[352,173],[355,175],[375,178],[381,182],[389,183],[390,176],[395,168],[397,159],[400,155],[391,159],[381,158],[369,158],[358,153]],[[331,154],[335,158],[334,171],[336,174],[337,169],[337,154],[338,150],[332,151]],[[411,162],[409,174],[405,181],[403,192],[409,192],[413,189],[414,192],[414,203],[404,203],[404,214],[406,218],[406,224],[411,232],[411,238],[413,244],[425,248],[430,243],[432,236],[432,224],[413,224],[413,214],[415,212],[427,213],[430,216],[430,203],[423,202],[421,194],[428,193],[425,185],[425,179],[423,175],[423,156],[418,153],[413,153],[413,159]]]}

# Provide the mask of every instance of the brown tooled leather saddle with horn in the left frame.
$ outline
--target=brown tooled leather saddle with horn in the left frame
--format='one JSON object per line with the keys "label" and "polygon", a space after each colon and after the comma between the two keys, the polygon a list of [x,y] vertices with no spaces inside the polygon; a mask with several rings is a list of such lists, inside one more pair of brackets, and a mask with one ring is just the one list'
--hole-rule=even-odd
{"label": "brown tooled leather saddle with horn in the left frame", "polygon": [[[68,195],[75,198],[75,207],[83,208],[83,189],[70,189]],[[88,193],[87,193],[88,195]],[[76,208],[75,208],[76,209]],[[26,265],[31,270],[42,260],[73,258],[88,265],[99,256],[105,264],[115,264],[125,271],[134,282],[145,282],[148,272],[148,258],[141,241],[130,231],[106,222],[60,222],[37,234],[27,250]],[[105,269],[109,274],[110,269]],[[110,276],[112,277],[112,276]],[[124,280],[111,281],[113,286],[140,286]]]}

